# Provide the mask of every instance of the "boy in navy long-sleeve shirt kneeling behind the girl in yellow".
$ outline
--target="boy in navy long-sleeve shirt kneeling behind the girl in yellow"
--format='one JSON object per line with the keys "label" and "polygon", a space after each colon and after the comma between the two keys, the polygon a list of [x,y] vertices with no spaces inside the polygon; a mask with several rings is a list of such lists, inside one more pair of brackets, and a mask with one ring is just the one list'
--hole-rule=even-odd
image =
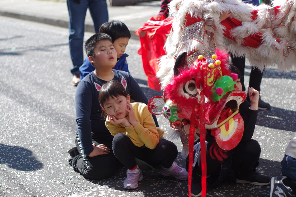
{"label": "boy in navy long-sleeve shirt kneeling behind the girl in yellow", "polygon": [[[79,82],[75,94],[77,135],[76,147],[69,150],[69,164],[75,172],[91,179],[104,179],[112,175],[118,162],[113,150],[113,136],[101,116],[99,91],[110,80],[119,81],[135,102],[147,105],[148,99],[136,80],[125,71],[112,69],[118,54],[112,39],[105,33],[97,33],[85,43],[88,60],[94,71]],[[156,126],[157,119],[153,116]]]}

